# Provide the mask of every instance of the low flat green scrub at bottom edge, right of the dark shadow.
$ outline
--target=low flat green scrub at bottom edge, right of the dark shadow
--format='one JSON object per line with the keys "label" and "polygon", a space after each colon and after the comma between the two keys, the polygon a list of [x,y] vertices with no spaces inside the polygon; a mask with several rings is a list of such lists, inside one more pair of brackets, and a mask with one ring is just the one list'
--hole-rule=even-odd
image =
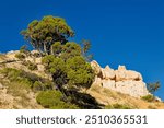
{"label": "low flat green scrub at bottom edge, right of the dark shadow", "polygon": [[113,105],[107,105],[105,106],[106,109],[132,109],[129,105],[126,104],[113,104]]}

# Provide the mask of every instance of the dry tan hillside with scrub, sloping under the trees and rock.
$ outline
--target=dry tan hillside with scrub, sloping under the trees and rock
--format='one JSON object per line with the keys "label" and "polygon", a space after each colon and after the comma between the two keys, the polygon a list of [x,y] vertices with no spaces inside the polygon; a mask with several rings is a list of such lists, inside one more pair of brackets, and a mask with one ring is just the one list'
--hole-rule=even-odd
{"label": "dry tan hillside with scrub, sloping under the trees and rock", "polygon": [[[38,56],[36,50],[31,51],[30,56],[25,57],[17,57],[19,54],[20,51],[17,50],[0,55],[0,108],[44,108],[46,106],[39,105],[36,100],[39,93],[38,90],[42,88],[38,83],[40,82],[42,85],[44,84],[46,88],[50,86],[52,84],[52,78],[46,72],[42,63],[42,57]],[[113,80],[114,79],[116,79],[116,77],[114,77]],[[95,79],[95,81],[97,79]],[[139,79],[136,80],[142,81],[142,78],[139,77]],[[119,82],[118,79],[115,81]],[[133,78],[132,80],[130,78],[130,81],[133,81]],[[134,88],[134,90],[138,90],[138,88]],[[125,91],[127,91],[127,89]],[[139,92],[137,94],[141,94],[141,96],[144,96],[142,94],[149,94],[145,89],[142,92],[143,93]],[[94,82],[87,90],[81,89],[78,95],[79,98],[83,98],[83,102],[87,101],[92,102],[92,105],[97,105],[97,107],[92,106],[90,108],[164,108],[164,103],[157,98],[147,102],[141,100],[140,95],[136,96],[136,94],[131,95],[131,93],[124,94],[124,91],[120,92],[110,90],[110,88],[103,88],[101,84],[97,84],[97,82]],[[82,95],[84,96],[82,97]],[[91,106],[91,104],[89,103],[87,106]],[[72,108],[77,107],[72,106]]]}

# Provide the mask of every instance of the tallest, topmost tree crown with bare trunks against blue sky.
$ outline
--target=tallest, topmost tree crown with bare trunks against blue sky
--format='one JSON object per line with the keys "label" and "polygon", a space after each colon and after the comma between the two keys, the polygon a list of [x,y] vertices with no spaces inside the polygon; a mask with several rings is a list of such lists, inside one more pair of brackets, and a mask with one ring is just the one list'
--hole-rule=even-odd
{"label": "tallest, topmost tree crown with bare trunks against blue sky", "polygon": [[40,21],[34,20],[28,27],[21,32],[36,49],[50,54],[50,47],[56,42],[65,44],[74,32],[62,18],[44,16]]}

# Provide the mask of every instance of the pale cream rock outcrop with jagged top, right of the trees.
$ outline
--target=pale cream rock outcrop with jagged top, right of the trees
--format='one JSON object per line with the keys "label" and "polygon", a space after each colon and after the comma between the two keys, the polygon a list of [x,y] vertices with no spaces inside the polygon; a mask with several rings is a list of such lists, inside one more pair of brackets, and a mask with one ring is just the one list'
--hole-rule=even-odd
{"label": "pale cream rock outcrop with jagged top, right of the trees", "polygon": [[101,85],[134,97],[149,94],[142,75],[137,71],[127,70],[125,66],[119,66],[118,70],[109,66],[101,68],[95,60],[91,62],[91,66],[96,73],[93,85]]}

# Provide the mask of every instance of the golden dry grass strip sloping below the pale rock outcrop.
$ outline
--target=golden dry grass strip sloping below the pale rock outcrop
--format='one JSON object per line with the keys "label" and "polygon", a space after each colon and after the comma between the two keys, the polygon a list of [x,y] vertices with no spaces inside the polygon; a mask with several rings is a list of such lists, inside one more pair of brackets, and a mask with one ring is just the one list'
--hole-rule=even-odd
{"label": "golden dry grass strip sloping below the pale rock outcrop", "polygon": [[98,103],[107,105],[109,108],[118,104],[120,107],[129,107],[132,109],[164,109],[164,103],[149,103],[109,89],[103,89],[99,85],[93,85],[87,93],[95,97]]}

